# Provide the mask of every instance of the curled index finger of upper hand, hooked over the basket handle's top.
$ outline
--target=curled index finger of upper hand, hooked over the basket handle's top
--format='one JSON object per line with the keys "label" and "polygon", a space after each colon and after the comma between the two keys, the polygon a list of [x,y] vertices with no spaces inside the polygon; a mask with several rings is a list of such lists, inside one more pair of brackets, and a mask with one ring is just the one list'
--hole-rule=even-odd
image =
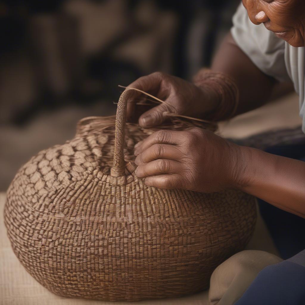
{"label": "curled index finger of upper hand, hooked over the basket handle's top", "polygon": [[[137,88],[145,92],[149,92],[151,94],[156,93],[162,81],[163,74],[160,72],[155,72],[143,77],[138,78],[136,81],[129,84],[127,87]],[[135,103],[136,99],[141,95],[141,92],[136,90],[132,90],[131,97],[127,103],[127,112],[126,117],[128,121],[133,119],[133,114],[135,113]]]}

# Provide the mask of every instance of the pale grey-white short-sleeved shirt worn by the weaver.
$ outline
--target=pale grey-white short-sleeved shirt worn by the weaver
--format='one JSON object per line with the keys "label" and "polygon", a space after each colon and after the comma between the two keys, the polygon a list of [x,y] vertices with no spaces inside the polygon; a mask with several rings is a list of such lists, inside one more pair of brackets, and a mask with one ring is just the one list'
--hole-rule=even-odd
{"label": "pale grey-white short-sleeved shirt worn by the weaver", "polygon": [[305,133],[305,48],[296,48],[275,36],[263,24],[253,24],[241,4],[233,16],[231,34],[236,44],[265,74],[278,81],[292,81],[299,95]]}

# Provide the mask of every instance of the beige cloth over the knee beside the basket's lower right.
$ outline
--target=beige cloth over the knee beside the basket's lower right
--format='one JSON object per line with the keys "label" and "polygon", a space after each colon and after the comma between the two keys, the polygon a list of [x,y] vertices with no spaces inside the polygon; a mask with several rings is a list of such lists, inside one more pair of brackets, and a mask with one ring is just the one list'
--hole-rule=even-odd
{"label": "beige cloth over the knee beside the basket's lower right", "polygon": [[280,262],[282,259],[274,254],[257,250],[246,250],[231,256],[211,276],[210,305],[235,304],[262,269]]}

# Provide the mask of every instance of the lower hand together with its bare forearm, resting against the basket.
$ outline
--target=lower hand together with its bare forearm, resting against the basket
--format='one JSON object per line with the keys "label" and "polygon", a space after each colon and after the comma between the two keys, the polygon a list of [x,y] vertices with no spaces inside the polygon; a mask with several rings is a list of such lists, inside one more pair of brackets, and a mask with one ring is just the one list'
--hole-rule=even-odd
{"label": "lower hand together with its bare forearm, resting against the basket", "polygon": [[158,188],[242,190],[305,217],[305,162],[231,143],[210,131],[156,131],[135,146],[135,173]]}

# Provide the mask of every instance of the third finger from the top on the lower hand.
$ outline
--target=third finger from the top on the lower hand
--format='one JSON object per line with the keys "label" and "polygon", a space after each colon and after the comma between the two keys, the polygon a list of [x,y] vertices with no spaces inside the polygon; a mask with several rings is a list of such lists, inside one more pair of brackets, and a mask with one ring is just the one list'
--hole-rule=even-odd
{"label": "third finger from the top on the lower hand", "polygon": [[155,176],[160,174],[178,174],[181,172],[181,163],[174,160],[158,159],[149,163],[139,165],[135,174],[139,178]]}

